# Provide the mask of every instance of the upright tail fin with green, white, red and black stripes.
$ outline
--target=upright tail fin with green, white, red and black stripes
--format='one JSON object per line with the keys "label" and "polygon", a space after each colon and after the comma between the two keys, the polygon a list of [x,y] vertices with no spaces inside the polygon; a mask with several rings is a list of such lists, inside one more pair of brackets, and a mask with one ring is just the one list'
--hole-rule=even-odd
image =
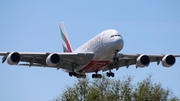
{"label": "upright tail fin with green, white, red and black stripes", "polygon": [[63,22],[60,23],[60,32],[61,32],[64,52],[72,52],[73,50]]}

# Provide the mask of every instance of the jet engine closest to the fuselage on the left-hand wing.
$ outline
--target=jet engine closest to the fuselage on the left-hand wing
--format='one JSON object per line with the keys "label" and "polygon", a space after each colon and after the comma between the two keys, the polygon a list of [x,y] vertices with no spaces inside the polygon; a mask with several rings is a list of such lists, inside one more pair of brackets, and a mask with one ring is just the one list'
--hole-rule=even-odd
{"label": "jet engine closest to the fuselage on the left-hand wing", "polygon": [[60,61],[60,56],[56,53],[52,53],[46,58],[46,64],[48,66],[56,66]]}

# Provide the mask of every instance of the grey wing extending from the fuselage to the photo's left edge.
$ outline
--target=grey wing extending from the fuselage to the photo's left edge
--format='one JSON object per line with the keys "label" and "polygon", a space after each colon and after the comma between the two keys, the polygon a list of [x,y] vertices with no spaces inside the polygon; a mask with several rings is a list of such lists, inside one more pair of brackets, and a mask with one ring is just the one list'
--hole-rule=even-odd
{"label": "grey wing extending from the fuselage to the photo's left edge", "polygon": [[[17,63],[13,63],[11,58],[13,53],[20,55],[20,60]],[[49,66],[46,63],[47,58],[52,54],[58,54],[60,62],[53,66]],[[2,63],[6,60],[10,65],[23,65],[23,66],[39,66],[39,67],[51,67],[62,68],[66,70],[72,70],[72,64],[85,65],[89,63],[94,54],[92,52],[87,53],[46,53],[46,52],[0,52],[0,56],[3,56]]]}

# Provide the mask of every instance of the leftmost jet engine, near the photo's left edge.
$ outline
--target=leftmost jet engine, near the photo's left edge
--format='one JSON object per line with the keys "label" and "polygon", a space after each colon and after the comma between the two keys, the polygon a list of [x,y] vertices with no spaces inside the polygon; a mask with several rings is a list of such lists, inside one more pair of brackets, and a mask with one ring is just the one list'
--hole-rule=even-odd
{"label": "leftmost jet engine, near the photo's left edge", "polygon": [[9,65],[16,65],[19,63],[21,56],[18,52],[12,52],[7,56],[7,63]]}

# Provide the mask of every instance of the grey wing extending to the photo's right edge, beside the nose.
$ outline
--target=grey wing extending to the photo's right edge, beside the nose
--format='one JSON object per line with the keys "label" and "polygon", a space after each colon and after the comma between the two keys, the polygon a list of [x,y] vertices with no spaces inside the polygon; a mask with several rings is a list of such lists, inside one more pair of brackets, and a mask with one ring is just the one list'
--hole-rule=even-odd
{"label": "grey wing extending to the photo's right edge, beside the nose", "polygon": [[[162,62],[162,64],[164,64],[164,62],[166,61],[168,56],[173,56],[174,58],[176,57],[180,57],[179,54],[174,54],[174,55],[169,55],[169,54],[118,54],[118,59],[119,61],[116,63],[113,63],[112,61],[109,63],[108,66],[106,66],[102,71],[107,71],[109,69],[116,69],[118,70],[120,67],[126,67],[128,68],[130,65],[136,65],[136,68],[140,67],[138,65],[139,59],[142,56],[148,56],[149,58],[149,63],[150,62],[157,62],[157,65],[160,64],[160,62]],[[170,59],[171,62],[172,59]],[[173,64],[172,64],[173,65]],[[144,65],[141,66],[142,67],[147,67],[148,65]],[[164,64],[165,67],[170,67],[171,65],[166,65]]]}

